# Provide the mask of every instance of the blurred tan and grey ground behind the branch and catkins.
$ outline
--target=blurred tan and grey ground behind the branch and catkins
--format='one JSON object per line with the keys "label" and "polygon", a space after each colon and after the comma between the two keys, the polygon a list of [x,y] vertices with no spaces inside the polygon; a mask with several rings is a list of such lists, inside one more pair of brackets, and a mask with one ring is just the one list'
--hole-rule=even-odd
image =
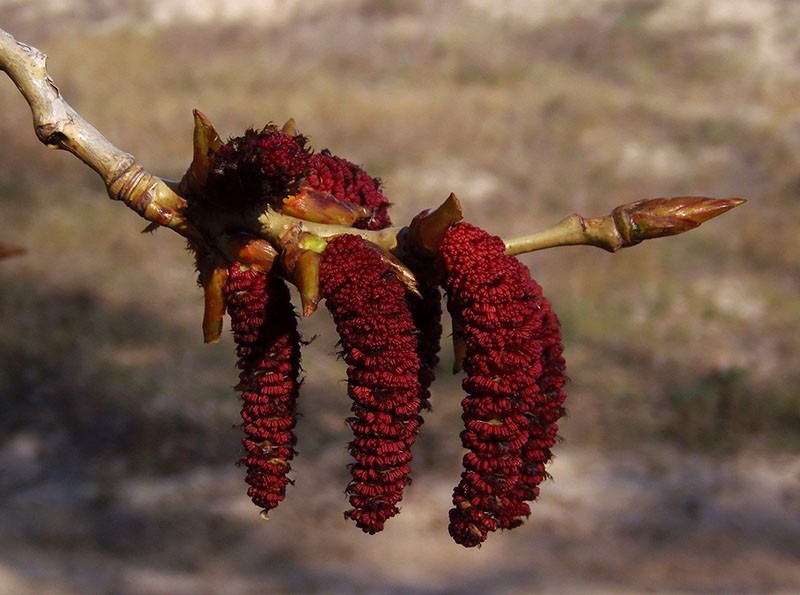
{"label": "blurred tan and grey ground behind the branch and catkins", "polygon": [[[800,4],[791,0],[0,0],[67,101],[179,178],[192,108],[293,117],[384,180],[396,224],[450,192],[520,235],[659,196],[742,207],[618,254],[522,257],[564,331],[563,443],[533,514],[447,535],[461,377],[444,342],[386,530],[342,512],[336,336],[302,321],[296,485],[259,519],[234,347],[202,344],[175,234],[33,134],[0,79],[0,593],[800,590]],[[449,322],[445,323],[445,334]]]}

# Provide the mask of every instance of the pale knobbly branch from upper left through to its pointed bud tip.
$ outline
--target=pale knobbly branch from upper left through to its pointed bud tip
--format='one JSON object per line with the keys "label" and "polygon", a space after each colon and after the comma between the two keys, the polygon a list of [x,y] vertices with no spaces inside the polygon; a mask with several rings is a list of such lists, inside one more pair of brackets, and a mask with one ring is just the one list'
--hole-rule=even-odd
{"label": "pale knobbly branch from upper left through to its pointed bud tip", "polygon": [[[98,173],[113,200],[123,202],[155,226],[168,227],[189,238],[196,246],[224,243],[221,238],[236,232],[261,236],[280,246],[282,238],[286,238],[287,232],[291,231],[294,237],[310,234],[330,238],[344,233],[358,234],[386,251],[409,251],[407,246],[398,246],[398,238],[407,235],[404,233],[407,227],[361,230],[347,225],[307,221],[270,207],[249,213],[200,211],[195,213],[194,220],[189,220],[186,215],[187,201],[183,196],[184,186],[146,172],[132,155],[115,147],[84,120],[61,96],[47,72],[46,61],[44,53],[16,41],[0,29],[0,70],[11,78],[28,102],[39,140],[50,148],[69,151],[78,157]],[[208,152],[199,149],[207,149],[214,143],[219,143],[216,131],[205,116],[195,112],[193,167],[203,159],[206,159],[207,166]],[[739,198],[678,197],[622,205],[610,215],[598,219],[574,214],[540,232],[507,240],[507,252],[522,254],[578,244],[614,252],[645,239],[693,229],[743,202]],[[460,206],[454,196],[445,201],[445,205],[448,205],[447,208],[441,212],[447,215],[440,214],[440,217],[444,217],[442,222],[434,223],[431,227],[437,230],[437,234],[444,233],[448,225],[460,219]],[[453,209],[458,212],[455,219],[452,219]],[[427,247],[424,248],[427,250]]]}

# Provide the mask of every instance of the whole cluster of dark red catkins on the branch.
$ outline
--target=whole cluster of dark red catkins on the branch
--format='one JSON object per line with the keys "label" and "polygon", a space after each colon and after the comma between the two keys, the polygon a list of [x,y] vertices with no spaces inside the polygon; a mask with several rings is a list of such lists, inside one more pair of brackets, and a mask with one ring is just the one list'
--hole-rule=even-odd
{"label": "whole cluster of dark red catkins on the branch", "polygon": [[295,210],[284,212],[324,222],[338,204],[358,207],[347,224],[353,232],[346,226],[320,240],[311,258],[298,257],[309,256],[307,248],[278,243],[276,266],[229,257],[219,276],[239,358],[241,463],[253,502],[266,514],[291,483],[301,338],[285,279],[296,278],[291,269],[302,262],[304,287],[313,271],[312,286],[333,317],[347,364],[353,463],[345,516],[372,534],[399,511],[422,414],[430,409],[444,290],[466,373],[464,472],[449,531],[472,547],[492,531],[519,526],[547,477],[566,382],[558,320],[528,269],[505,254],[499,238],[456,222],[441,231],[424,266],[412,258],[400,263],[416,277],[410,290],[398,257],[356,233],[391,225],[380,180],[360,167],[314,152],[293,129],[274,126],[212,147],[208,160],[200,199],[214,208],[281,211],[289,197],[311,197],[303,210],[293,203]]}

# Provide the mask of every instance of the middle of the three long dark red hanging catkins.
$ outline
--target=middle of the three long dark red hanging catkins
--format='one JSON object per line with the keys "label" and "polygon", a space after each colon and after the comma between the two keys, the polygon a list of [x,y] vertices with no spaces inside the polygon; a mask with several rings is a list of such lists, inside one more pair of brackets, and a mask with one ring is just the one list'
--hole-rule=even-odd
{"label": "middle of the three long dark red hanging catkins", "polygon": [[420,359],[405,286],[359,236],[328,243],[320,289],[341,337],[354,416],[355,459],[345,516],[366,533],[398,512],[422,423]]}

